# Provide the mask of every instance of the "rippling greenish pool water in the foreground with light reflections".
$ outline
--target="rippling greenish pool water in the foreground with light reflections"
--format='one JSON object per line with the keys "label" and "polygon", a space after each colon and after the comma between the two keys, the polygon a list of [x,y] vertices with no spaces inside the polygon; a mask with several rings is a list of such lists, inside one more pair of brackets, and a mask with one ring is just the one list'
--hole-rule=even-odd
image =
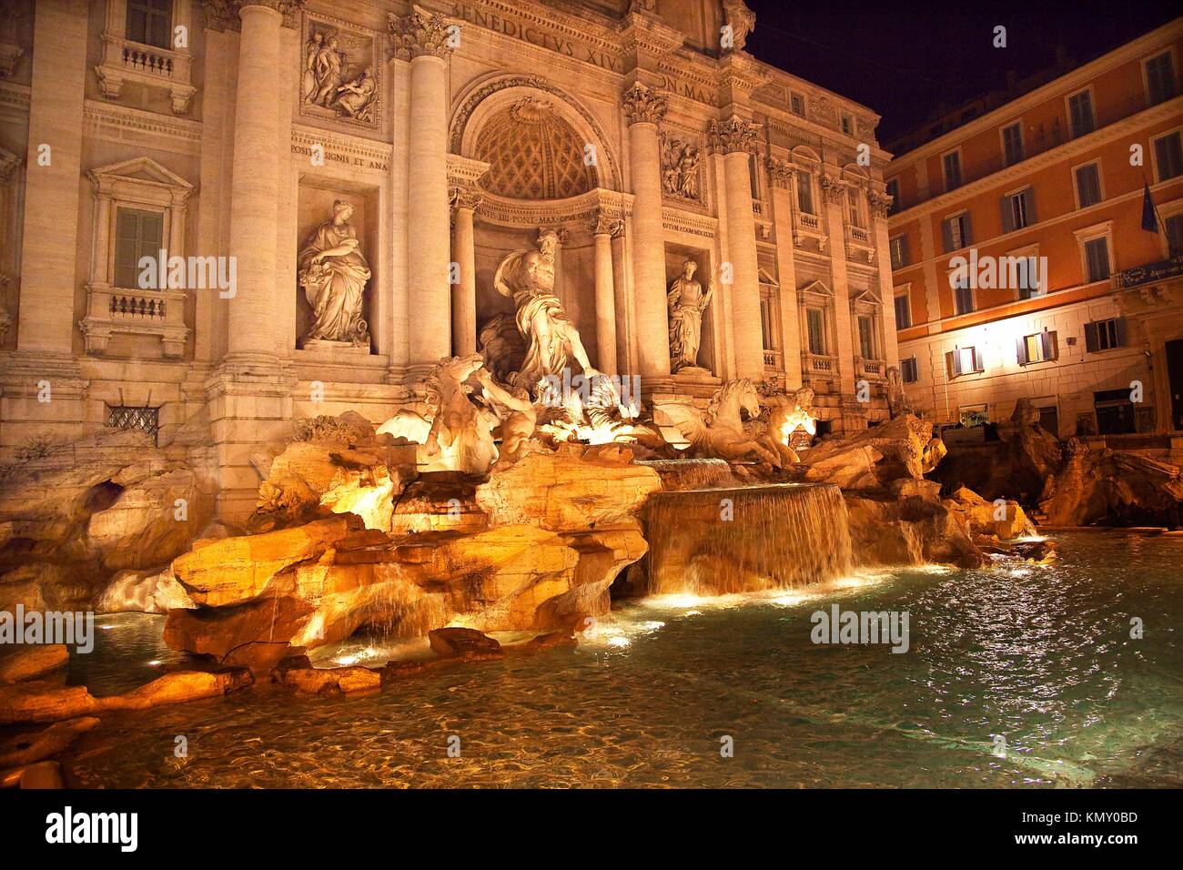
{"label": "rippling greenish pool water in the foreground with light reflections", "polygon": [[[1183,539],[1060,544],[1049,567],[651,600],[574,652],[458,665],[367,697],[261,687],[108,714],[63,761],[75,785],[108,787],[1183,785]],[[910,650],[813,644],[810,614],[833,602],[906,611]],[[98,621],[111,627],[71,682],[122,691],[170,656],[160,618]],[[319,663],[389,655],[362,640]],[[735,756],[720,758],[728,736]]]}

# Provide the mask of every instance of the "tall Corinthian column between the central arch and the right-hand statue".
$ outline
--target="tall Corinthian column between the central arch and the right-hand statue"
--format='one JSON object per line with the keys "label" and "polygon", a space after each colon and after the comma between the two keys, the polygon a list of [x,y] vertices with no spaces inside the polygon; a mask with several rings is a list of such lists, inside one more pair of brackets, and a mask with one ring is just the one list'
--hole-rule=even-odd
{"label": "tall Corinthian column between the central arch and the right-hand statue", "polygon": [[[625,91],[628,166],[633,180],[633,283],[636,352],[642,378],[670,374],[665,299],[665,232],[661,227],[661,148],[658,122],[666,98],[640,82]],[[755,241],[754,241],[755,244]]]}

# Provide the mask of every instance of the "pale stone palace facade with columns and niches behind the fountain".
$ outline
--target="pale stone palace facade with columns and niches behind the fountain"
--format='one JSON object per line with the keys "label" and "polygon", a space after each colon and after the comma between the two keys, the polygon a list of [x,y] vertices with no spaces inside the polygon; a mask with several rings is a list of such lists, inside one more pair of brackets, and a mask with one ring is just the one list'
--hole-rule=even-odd
{"label": "pale stone palace facade with columns and niches behind the fountain", "polygon": [[[813,387],[834,431],[886,418],[878,116],[752,58],[754,22],[738,0],[9,0],[4,457],[151,427],[208,443],[244,514],[259,444],[384,420],[496,339],[497,266],[542,228],[593,365],[646,398],[749,378]],[[672,367],[686,260],[713,294]]]}

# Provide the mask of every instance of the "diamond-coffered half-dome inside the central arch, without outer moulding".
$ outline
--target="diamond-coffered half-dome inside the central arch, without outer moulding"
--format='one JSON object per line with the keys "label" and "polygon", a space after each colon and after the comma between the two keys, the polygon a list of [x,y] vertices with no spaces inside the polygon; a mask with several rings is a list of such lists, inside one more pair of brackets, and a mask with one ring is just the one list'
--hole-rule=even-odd
{"label": "diamond-coffered half-dome inside the central arch, without outer moulding", "polygon": [[525,96],[477,135],[473,156],[489,163],[480,186],[509,199],[569,199],[597,186],[586,143],[550,99]]}

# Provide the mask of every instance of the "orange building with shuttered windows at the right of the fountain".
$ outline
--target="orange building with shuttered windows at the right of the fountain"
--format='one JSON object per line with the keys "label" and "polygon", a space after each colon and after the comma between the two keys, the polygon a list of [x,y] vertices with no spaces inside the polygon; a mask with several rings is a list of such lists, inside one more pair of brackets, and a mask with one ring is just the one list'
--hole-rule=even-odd
{"label": "orange building with shuttered windows at the right of the fountain", "polygon": [[1030,399],[1061,437],[1183,430],[1181,52],[1175,20],[888,146],[917,410],[976,424]]}

